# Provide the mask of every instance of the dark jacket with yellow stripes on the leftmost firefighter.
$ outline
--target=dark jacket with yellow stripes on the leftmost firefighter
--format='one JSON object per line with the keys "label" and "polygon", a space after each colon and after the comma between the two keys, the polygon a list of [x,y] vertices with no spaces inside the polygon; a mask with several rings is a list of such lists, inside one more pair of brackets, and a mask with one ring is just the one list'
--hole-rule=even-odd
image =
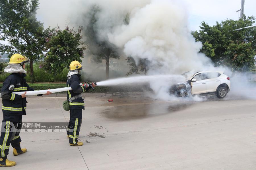
{"label": "dark jacket with yellow stripes on the leftmost firefighter", "polygon": [[[13,94],[12,92],[34,91],[26,83],[25,73],[12,73],[3,82],[1,89],[1,98],[3,99],[2,111],[5,115],[25,115],[26,114],[26,97]],[[9,90],[10,85],[14,86],[13,90]]]}

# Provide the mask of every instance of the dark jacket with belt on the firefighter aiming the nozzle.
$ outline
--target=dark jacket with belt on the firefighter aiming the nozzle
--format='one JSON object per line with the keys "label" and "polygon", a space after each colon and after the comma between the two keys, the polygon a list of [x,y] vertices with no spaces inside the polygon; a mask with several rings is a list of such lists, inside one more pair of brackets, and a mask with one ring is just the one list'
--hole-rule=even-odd
{"label": "dark jacket with belt on the firefighter aiming the nozzle", "polygon": [[[74,97],[76,95],[80,95],[82,92],[85,92],[86,90],[89,90],[90,87],[85,88],[83,86],[80,86],[80,80],[79,77],[81,75],[75,74],[71,75],[67,78],[67,87],[71,87],[72,90],[67,91],[67,99]],[[69,102],[69,108],[70,109],[84,109],[84,99],[82,97],[75,99],[71,102]]]}

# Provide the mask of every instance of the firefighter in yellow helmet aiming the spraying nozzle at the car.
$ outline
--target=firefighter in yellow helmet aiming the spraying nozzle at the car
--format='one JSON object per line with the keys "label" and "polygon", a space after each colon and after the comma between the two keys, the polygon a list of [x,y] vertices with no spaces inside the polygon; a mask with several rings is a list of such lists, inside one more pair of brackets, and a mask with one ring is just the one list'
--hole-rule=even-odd
{"label": "firefighter in yellow helmet aiming the spraying nozzle at the car", "polygon": [[82,142],[78,142],[79,131],[82,123],[82,109],[84,109],[84,99],[82,99],[82,92],[89,90],[96,85],[80,83],[79,77],[81,76],[80,70],[82,69],[81,63],[72,61],[69,65],[69,73],[67,75],[67,87],[72,90],[67,91],[67,99],[69,100],[70,119],[69,131],[67,132],[70,146],[82,146]]}

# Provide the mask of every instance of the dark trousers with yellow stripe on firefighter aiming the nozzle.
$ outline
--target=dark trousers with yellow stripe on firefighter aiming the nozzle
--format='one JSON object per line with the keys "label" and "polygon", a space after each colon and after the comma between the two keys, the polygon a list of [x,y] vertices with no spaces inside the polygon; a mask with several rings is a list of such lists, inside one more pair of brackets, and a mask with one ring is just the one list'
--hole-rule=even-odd
{"label": "dark trousers with yellow stripe on firefighter aiming the nozzle", "polygon": [[80,127],[82,124],[82,109],[70,109],[69,119],[69,143],[76,144],[78,142],[78,136]]}

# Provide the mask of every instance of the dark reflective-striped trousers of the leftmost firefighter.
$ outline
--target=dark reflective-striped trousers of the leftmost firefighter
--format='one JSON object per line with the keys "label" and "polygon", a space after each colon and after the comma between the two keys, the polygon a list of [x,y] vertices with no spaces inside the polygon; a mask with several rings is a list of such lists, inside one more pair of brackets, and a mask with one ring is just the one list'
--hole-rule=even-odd
{"label": "dark reflective-striped trousers of the leftmost firefighter", "polygon": [[22,115],[3,115],[0,137],[1,157],[7,157],[10,144],[17,152],[22,152],[20,148],[21,122]]}

